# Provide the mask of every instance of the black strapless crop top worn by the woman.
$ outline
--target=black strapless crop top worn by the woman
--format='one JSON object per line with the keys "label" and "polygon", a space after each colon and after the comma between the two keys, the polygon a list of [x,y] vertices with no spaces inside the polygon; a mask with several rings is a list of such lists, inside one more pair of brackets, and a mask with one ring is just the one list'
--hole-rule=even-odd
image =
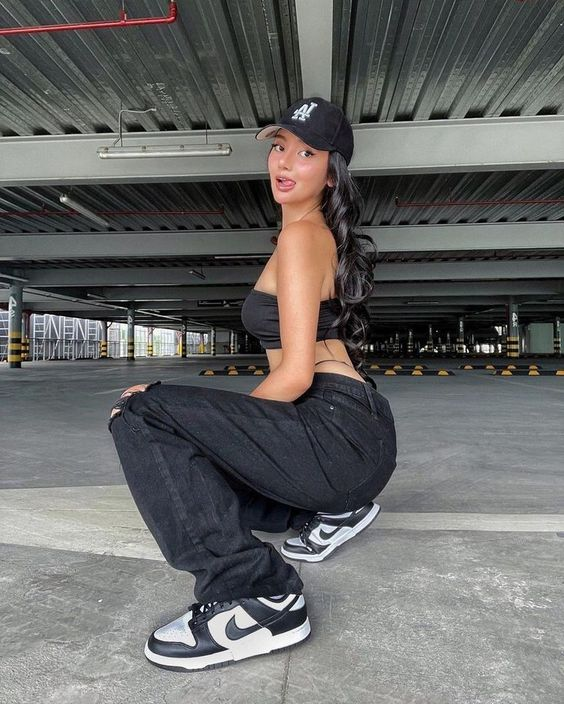
{"label": "black strapless crop top worn by the woman", "polygon": [[[317,323],[318,341],[339,339],[339,331],[337,328],[331,327],[331,323],[336,320],[339,311],[338,298],[320,301]],[[251,335],[258,337],[264,349],[281,347],[278,299],[272,293],[253,288],[243,302],[241,321]]]}

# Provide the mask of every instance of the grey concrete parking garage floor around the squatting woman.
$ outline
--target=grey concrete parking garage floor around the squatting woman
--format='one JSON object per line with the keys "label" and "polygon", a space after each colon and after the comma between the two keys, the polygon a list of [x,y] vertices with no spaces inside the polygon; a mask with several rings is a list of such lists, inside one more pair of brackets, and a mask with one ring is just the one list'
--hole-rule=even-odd
{"label": "grey concrete parking garage floor around the squatting woman", "polygon": [[154,379],[248,393],[260,380],[197,376],[233,361],[265,358],[0,365],[0,702],[561,702],[564,377],[456,360],[425,362],[453,377],[375,377],[398,467],[377,521],[300,567],[308,641],[193,674],[145,660],[193,581],[142,523],[106,417]]}

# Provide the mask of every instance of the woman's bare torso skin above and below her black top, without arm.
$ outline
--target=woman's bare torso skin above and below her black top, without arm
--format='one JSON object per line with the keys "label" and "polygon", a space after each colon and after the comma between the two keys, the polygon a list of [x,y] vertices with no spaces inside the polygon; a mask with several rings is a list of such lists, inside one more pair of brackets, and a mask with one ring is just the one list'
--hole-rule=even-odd
{"label": "woman's bare torso skin above and below her black top, without arm", "polygon": [[[335,298],[333,282],[335,280],[337,248],[333,235],[330,231],[329,234],[330,241],[333,245],[333,270],[331,274],[328,273],[326,281],[323,282],[323,294],[320,301],[328,298]],[[261,275],[255,283],[254,288],[257,289],[257,291],[264,291],[265,293],[269,293],[273,296],[276,295],[276,250],[274,250],[272,256],[266,263]],[[282,361],[282,349],[267,349],[265,352],[268,358],[269,369],[272,372]],[[318,362],[320,362],[320,364],[318,364]],[[345,343],[342,340],[320,340],[315,343],[315,366],[313,371],[315,373],[330,372],[331,374],[341,374],[342,376],[348,376],[351,379],[362,381],[364,384],[366,383],[366,381],[355,370],[347,353]]]}

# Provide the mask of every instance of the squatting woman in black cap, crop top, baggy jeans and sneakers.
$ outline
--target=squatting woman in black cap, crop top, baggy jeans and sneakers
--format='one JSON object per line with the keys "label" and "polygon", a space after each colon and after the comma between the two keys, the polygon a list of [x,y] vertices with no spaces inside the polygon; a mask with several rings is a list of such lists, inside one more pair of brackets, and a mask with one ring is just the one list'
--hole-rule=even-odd
{"label": "squatting woman in black cap, crop top, baggy jeans and sneakers", "polygon": [[353,132],[323,98],[275,125],[268,171],[282,228],[242,321],[269,374],[249,395],[132,386],[110,431],[133,498],[166,560],[194,575],[198,602],[158,628],[146,657],[217,667],[310,634],[303,582],[251,530],[299,531],[282,553],[318,562],[366,528],[396,466],[388,401],[363,372],[373,253],[355,232],[362,199],[348,171]]}

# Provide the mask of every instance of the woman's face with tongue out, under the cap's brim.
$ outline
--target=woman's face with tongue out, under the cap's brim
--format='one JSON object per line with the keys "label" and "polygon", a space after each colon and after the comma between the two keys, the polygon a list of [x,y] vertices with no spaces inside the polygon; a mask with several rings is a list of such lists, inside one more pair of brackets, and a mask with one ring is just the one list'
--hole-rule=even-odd
{"label": "woman's face with tongue out, under the cap's brim", "polygon": [[[270,186],[274,199],[301,203],[316,199],[328,183],[329,152],[315,149],[281,127],[268,154]],[[279,179],[286,179],[281,182]]]}

